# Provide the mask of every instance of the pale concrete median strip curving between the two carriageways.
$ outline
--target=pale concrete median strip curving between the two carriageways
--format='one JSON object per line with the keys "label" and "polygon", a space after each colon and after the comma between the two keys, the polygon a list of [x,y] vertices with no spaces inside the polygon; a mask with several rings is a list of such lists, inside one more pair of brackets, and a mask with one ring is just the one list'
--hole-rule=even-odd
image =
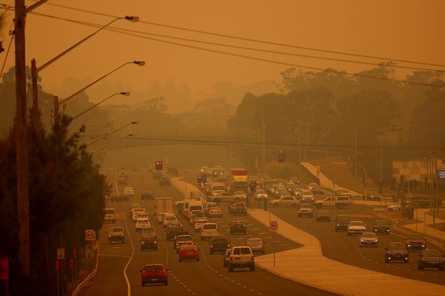
{"label": "pale concrete median strip curving between the two carriageways", "polygon": [[445,286],[361,269],[326,258],[316,237],[299,230],[272,213],[269,220],[268,211],[255,209],[249,211],[249,215],[266,226],[270,220],[277,221],[279,228],[276,231],[280,235],[303,245],[298,249],[277,253],[275,267],[273,254],[255,258],[259,267],[284,278],[340,295],[445,295]]}

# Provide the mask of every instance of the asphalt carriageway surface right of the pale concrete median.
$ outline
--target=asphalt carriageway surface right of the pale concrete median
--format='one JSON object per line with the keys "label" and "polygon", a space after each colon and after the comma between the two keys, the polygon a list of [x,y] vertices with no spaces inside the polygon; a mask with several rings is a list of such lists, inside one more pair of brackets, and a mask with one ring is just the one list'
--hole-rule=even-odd
{"label": "asphalt carriageway surface right of the pale concrete median", "polygon": [[[188,172],[192,171],[188,170]],[[198,174],[198,172],[199,170],[196,170],[195,174]],[[316,198],[320,199],[322,196],[316,196]],[[256,203],[253,206],[263,207],[262,204],[258,205]],[[316,208],[314,208],[314,217],[309,218],[297,217],[296,208],[273,208],[269,206],[271,213],[274,213],[280,219],[314,235],[322,245],[323,254],[328,258],[364,269],[445,285],[444,271],[438,271],[437,269],[418,270],[417,260],[420,252],[409,252],[409,263],[385,263],[385,247],[394,241],[405,243],[406,235],[398,232],[396,228],[392,228],[390,234],[378,234],[379,247],[359,247],[359,238],[357,236],[348,237],[346,232],[335,232],[334,220],[337,215],[350,215],[354,220],[364,221],[368,230],[371,230],[374,220],[381,219],[373,211],[374,208],[372,206],[352,204],[343,209],[334,207],[323,209],[331,213],[331,222],[316,221],[315,213],[318,211]],[[427,246],[440,250],[442,254],[445,252],[441,246],[434,245],[432,242],[427,241]]]}

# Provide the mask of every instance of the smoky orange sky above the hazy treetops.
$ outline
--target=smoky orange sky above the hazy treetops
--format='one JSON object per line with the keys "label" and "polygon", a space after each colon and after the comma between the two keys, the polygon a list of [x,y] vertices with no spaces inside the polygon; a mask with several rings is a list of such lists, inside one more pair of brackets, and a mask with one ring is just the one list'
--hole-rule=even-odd
{"label": "smoky orange sky above the hazy treetops", "polygon": [[[27,5],[33,2],[27,1]],[[9,0],[4,3],[13,5],[14,1]],[[441,36],[441,30],[437,30],[438,27],[445,27],[445,20],[442,17],[445,3],[438,0],[422,2],[273,1],[273,3],[271,1],[218,3],[214,1],[98,0],[92,2],[79,0],[75,3],[66,3],[66,1],[50,1],[49,3],[70,5],[116,16],[136,15],[140,16],[141,21],[202,29],[246,38],[445,64],[443,55],[445,41]],[[42,5],[36,12],[97,24],[105,24],[112,19],[47,4]],[[8,12],[3,28],[5,43],[9,39],[7,33],[11,21],[12,12]],[[129,23],[124,20],[117,21],[114,25],[181,38],[314,54],[310,51],[283,49],[279,46],[253,44],[144,23]],[[38,65],[41,65],[92,31],[94,31],[92,27],[29,14],[27,62],[35,57]],[[181,43],[348,72],[371,68],[360,64],[225,49],[192,42]],[[13,53],[14,46],[11,51]],[[316,55],[327,56],[322,53],[316,53]],[[13,56],[11,54],[8,57],[5,70],[14,63]],[[288,68],[288,66],[101,31],[97,36],[81,44],[41,72],[42,86],[47,92],[58,94],[63,98],[123,62],[135,59],[144,60],[147,65],[142,68],[126,66],[107,77],[86,92],[90,100],[97,102],[112,92],[128,91],[132,93],[131,96],[114,98],[108,104],[134,105],[152,96],[164,96],[168,112],[188,111],[194,108],[197,101],[212,97],[225,97],[231,105],[238,105],[246,92],[262,94],[279,91],[274,83],[280,82],[279,73]],[[372,62],[383,62],[383,60]],[[60,75],[60,72],[64,72],[64,75]],[[406,73],[398,70],[396,75],[404,79]]]}

